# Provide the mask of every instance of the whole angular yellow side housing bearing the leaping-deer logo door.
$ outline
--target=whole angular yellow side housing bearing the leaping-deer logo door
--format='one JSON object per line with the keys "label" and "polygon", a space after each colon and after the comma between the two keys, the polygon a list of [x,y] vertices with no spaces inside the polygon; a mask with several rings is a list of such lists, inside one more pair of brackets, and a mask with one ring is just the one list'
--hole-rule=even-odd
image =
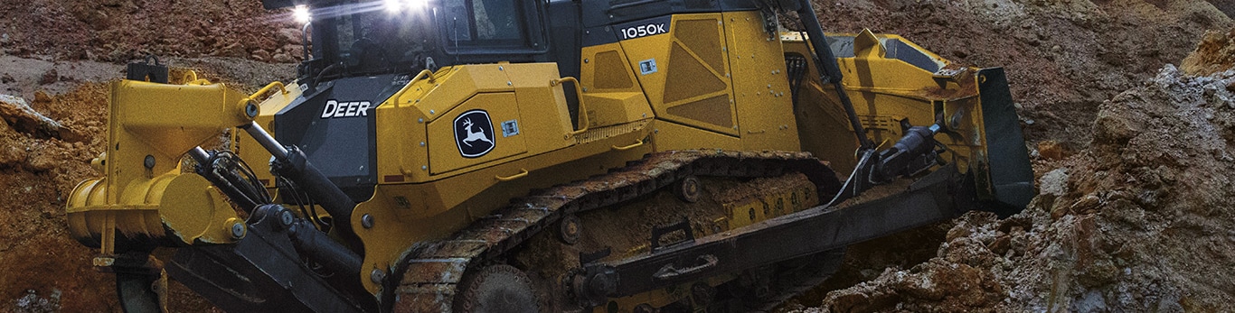
{"label": "whole angular yellow side housing bearing the leaping-deer logo door", "polygon": [[[442,175],[459,174],[452,171],[461,168],[517,153],[545,153],[573,143],[566,136],[573,131],[567,115],[566,96],[559,85],[550,84],[551,80],[558,79],[557,65],[553,63],[458,65],[417,78],[377,108],[377,128],[378,133],[383,134],[377,138],[378,176],[382,184],[442,179],[445,177]],[[495,84],[480,79],[499,81]],[[505,96],[498,99],[489,95],[493,94],[489,91],[494,90],[514,92],[500,92]],[[472,105],[461,107],[464,101]],[[499,143],[494,152],[480,158],[462,158],[454,144],[453,118],[472,108],[490,111],[490,122],[496,138],[487,139],[509,140],[517,148]],[[494,115],[494,112],[508,113]],[[516,124],[519,133],[504,137],[503,122]],[[441,126],[429,132],[425,127],[430,123]],[[429,164],[431,140],[427,133],[433,133],[435,147],[451,148],[433,149],[435,166]],[[453,152],[454,156],[450,156],[450,152]]]}

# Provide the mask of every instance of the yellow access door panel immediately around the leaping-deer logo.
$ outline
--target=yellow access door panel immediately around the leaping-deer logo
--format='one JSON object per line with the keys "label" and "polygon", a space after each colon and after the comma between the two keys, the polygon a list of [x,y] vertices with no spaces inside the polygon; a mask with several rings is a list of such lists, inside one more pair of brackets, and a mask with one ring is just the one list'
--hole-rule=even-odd
{"label": "yellow access door panel immediately around the leaping-deer logo", "polygon": [[[472,126],[466,127],[468,129],[464,132],[475,134],[475,137],[469,136],[468,139],[461,138],[462,142],[456,143],[454,120],[471,110],[484,110],[488,112],[489,127],[494,132],[493,138],[487,138],[489,136],[484,133],[472,132],[479,132],[479,127],[475,123],[483,123],[484,121],[459,120],[463,123],[472,122]],[[429,170],[433,175],[527,152],[527,147],[524,143],[525,137],[501,137],[501,121],[519,120],[519,106],[515,102],[514,92],[479,94],[453,110],[442,112],[440,116],[445,116],[445,118],[438,118],[429,123]],[[492,150],[480,156],[467,158],[463,155],[462,149],[464,148],[461,148],[461,145],[467,145],[468,143],[478,147],[492,145]]]}

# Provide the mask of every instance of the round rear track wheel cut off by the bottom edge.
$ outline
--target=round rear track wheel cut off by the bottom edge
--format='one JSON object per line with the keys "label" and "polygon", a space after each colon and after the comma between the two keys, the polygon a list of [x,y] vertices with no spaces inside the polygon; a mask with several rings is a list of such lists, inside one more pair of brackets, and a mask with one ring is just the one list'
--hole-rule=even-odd
{"label": "round rear track wheel cut off by the bottom edge", "polygon": [[510,265],[492,265],[464,277],[454,301],[454,312],[541,312],[541,298],[524,271]]}

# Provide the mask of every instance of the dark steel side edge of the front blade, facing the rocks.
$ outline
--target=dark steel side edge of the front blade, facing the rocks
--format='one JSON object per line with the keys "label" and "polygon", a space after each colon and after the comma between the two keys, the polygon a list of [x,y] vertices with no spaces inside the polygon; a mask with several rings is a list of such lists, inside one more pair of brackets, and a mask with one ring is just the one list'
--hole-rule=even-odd
{"label": "dark steel side edge of the front blade, facing the rocks", "polygon": [[1030,168],[1029,150],[1025,149],[1025,137],[1003,68],[978,71],[978,95],[987,129],[988,171],[997,200],[988,209],[1000,217],[1011,216],[1025,209],[1037,192],[1034,191],[1034,169]]}

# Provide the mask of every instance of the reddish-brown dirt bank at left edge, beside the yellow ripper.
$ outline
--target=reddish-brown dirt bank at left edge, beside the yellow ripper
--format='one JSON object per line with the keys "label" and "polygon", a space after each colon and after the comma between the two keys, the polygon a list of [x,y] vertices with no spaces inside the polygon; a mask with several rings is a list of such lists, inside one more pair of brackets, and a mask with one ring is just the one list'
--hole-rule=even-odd
{"label": "reddish-brown dirt bank at left edge, beside the yellow ripper", "polygon": [[[105,291],[111,277],[90,269],[94,253],[69,238],[64,200],[83,179],[98,175],[90,158],[104,150],[105,136],[74,139],[70,133],[101,133],[106,116],[105,87],[86,84],[77,91],[40,94],[33,111],[0,110],[0,298],[4,309],[19,312],[91,312],[115,308]],[[0,99],[15,107],[20,99]],[[42,112],[42,113],[40,113]],[[46,116],[44,116],[46,115]],[[23,127],[22,121],[56,121],[59,132]],[[109,309],[110,311],[110,309]]]}

